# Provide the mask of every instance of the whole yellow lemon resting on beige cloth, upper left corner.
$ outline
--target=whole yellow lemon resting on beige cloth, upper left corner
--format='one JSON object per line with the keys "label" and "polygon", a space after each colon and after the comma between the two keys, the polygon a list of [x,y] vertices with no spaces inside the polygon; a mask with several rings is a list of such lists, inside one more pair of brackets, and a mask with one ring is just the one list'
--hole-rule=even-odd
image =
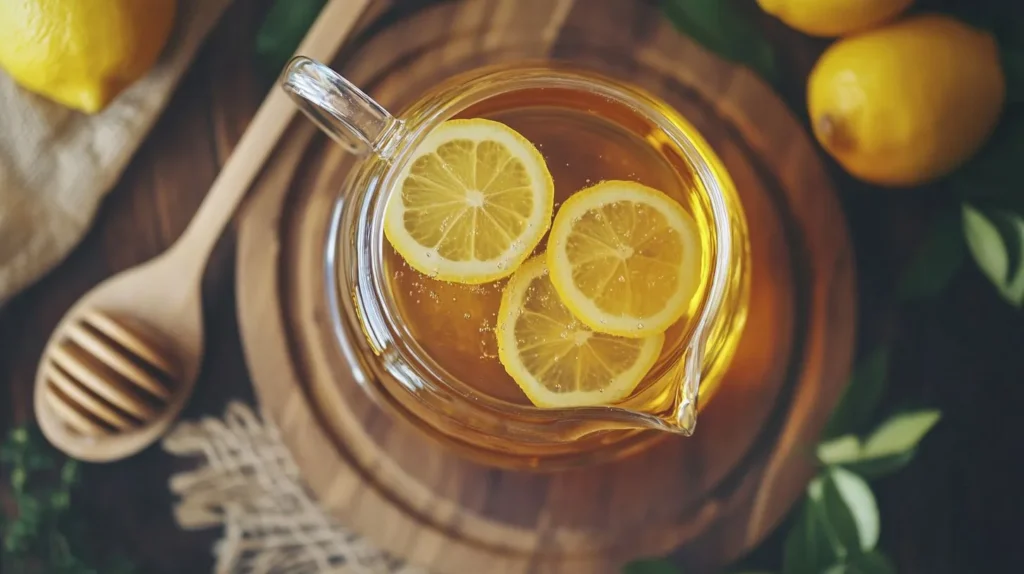
{"label": "whole yellow lemon resting on beige cloth, upper left corner", "polygon": [[0,68],[92,114],[150,70],[175,10],[175,0],[0,0]]}

